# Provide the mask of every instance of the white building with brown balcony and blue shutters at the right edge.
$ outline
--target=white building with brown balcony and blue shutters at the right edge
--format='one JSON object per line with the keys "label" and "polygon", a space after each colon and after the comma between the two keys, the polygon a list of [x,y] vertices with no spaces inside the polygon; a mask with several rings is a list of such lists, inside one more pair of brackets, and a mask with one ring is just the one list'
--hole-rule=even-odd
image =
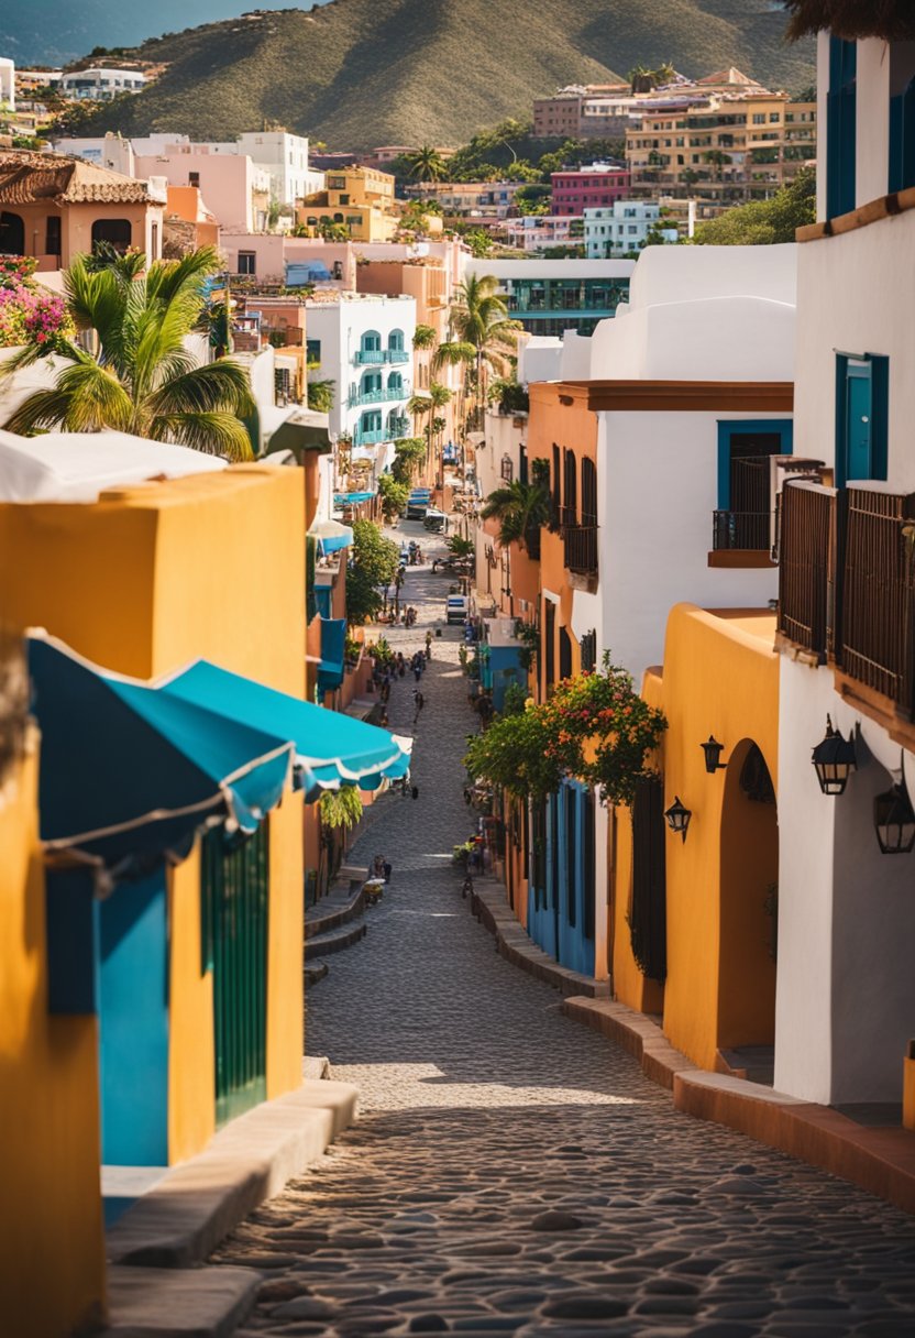
{"label": "white building with brown balcony and blue shutters at the right edge", "polygon": [[[911,43],[820,33],[820,222],[799,246],[796,420],[835,487],[788,488],[780,543],[775,1085],[883,1103],[888,1123],[904,1084],[915,1094],[915,854],[890,858],[878,840],[895,804],[884,843],[907,848],[915,795],[914,80]],[[811,765],[827,714],[857,761],[836,796]]]}

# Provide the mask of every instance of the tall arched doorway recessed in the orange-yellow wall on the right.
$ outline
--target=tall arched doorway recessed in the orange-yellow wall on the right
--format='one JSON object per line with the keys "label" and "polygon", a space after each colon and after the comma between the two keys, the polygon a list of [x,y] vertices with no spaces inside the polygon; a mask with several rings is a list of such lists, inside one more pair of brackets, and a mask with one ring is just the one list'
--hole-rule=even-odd
{"label": "tall arched doorway recessed in the orange-yellow wall on the right", "polygon": [[767,760],[750,739],[728,759],[720,887],[718,1049],[732,1068],[771,1082],[779,811]]}

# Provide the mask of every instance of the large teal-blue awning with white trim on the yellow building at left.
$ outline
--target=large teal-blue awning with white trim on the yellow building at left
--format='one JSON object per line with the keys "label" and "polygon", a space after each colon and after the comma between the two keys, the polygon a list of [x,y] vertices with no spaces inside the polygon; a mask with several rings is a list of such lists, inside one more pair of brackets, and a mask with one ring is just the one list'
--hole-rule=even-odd
{"label": "large teal-blue awning with white trim on the yellow building at left", "polygon": [[207,819],[253,831],[293,775],[377,789],[409,768],[385,729],[205,660],[173,678],[108,673],[44,634],[28,642],[41,727],[40,835],[110,867],[187,848]]}

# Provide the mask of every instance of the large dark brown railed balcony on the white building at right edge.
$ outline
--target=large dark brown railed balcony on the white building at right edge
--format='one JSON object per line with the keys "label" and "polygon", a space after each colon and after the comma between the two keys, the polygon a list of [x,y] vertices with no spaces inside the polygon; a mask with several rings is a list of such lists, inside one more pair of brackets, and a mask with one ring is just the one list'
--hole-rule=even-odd
{"label": "large dark brown railed balcony on the white building at right edge", "polygon": [[779,632],[852,680],[878,719],[912,720],[915,494],[792,483],[780,510]]}

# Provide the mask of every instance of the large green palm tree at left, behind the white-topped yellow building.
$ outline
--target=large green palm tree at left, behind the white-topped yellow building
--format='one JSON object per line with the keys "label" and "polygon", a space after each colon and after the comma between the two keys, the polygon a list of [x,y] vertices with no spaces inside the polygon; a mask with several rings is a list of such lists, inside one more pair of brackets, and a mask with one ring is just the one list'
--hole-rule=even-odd
{"label": "large green palm tree at left, behind the white-topped yellow building", "polygon": [[47,352],[63,367],[54,387],[11,413],[7,431],[108,429],[250,459],[241,419],[254,411],[254,399],[245,368],[229,359],[197,367],[185,348],[207,306],[203,280],[218,266],[213,248],[155,261],[143,274],[135,258],[92,270],[88,257],[78,256],[64,277],[67,306],[78,329],[94,332],[95,352],[56,339],[52,349],[28,345],[9,359],[5,376]]}

